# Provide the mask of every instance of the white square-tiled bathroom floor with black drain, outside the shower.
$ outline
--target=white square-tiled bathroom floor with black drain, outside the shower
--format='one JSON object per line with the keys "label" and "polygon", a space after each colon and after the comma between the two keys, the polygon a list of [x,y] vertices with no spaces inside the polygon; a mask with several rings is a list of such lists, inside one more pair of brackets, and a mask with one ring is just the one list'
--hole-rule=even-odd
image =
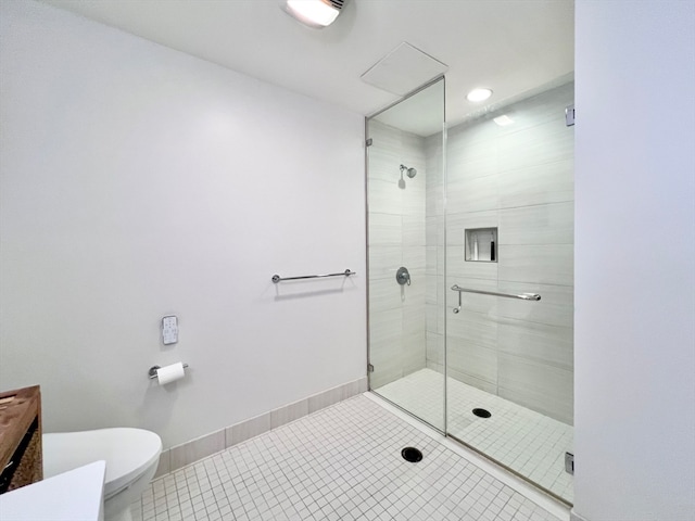
{"label": "white square-tiled bathroom floor with black drain, outside the shower", "polygon": [[[401,449],[415,446],[422,461]],[[153,481],[134,521],[558,521],[362,395]]]}

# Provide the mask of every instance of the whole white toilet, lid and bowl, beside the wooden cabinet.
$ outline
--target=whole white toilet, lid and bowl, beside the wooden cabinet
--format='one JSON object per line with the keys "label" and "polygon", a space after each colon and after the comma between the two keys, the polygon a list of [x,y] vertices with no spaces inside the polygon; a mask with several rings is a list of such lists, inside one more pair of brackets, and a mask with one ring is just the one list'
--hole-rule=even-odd
{"label": "whole white toilet, lid and bowl, beside the wooden cabinet", "polygon": [[106,461],[104,521],[131,521],[130,505],[154,476],[162,440],[142,429],[43,433],[43,478]]}

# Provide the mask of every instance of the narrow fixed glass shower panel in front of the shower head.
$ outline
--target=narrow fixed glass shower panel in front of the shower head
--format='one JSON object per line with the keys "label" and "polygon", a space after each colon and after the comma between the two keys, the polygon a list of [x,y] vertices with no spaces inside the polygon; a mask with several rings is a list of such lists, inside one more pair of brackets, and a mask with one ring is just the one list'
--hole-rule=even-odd
{"label": "narrow fixed glass shower panel in front of the shower head", "polygon": [[444,78],[369,117],[369,386],[444,431]]}

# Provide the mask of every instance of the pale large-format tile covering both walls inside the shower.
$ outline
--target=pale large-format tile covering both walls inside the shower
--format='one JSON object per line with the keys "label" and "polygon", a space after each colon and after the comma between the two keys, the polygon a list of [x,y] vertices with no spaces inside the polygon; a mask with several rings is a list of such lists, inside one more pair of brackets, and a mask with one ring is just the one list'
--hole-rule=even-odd
{"label": "pale large-format tile covering both walls inside the shower", "polygon": [[[442,371],[446,358],[450,377],[571,418],[573,128],[564,110],[572,98],[573,86],[563,86],[505,107],[509,127],[494,125],[491,113],[448,129],[445,220],[441,136],[375,126],[369,212],[389,215],[375,215],[370,227],[372,347],[384,345],[372,358],[384,371],[379,381],[419,367]],[[400,164],[418,175],[400,182]],[[497,262],[466,260],[465,230],[489,227],[498,230]],[[401,265],[413,285],[394,288]],[[542,300],[464,293],[453,314],[454,283]],[[400,322],[389,315],[399,309]]]}

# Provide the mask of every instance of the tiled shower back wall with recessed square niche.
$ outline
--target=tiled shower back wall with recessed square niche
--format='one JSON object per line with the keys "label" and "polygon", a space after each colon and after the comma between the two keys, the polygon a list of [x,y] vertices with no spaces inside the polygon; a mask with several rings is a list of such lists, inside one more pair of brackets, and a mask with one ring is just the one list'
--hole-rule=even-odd
{"label": "tiled shower back wall with recessed square niche", "polygon": [[[447,320],[450,376],[567,423],[572,422],[574,204],[573,127],[565,126],[564,111],[572,98],[568,84],[452,128],[446,153],[446,284],[542,295],[536,303],[464,294],[462,312]],[[502,113],[515,124],[496,126],[492,117]],[[432,162],[439,141],[428,139]],[[428,201],[439,201],[441,190],[428,186]],[[498,228],[497,262],[465,262],[464,230],[485,227]],[[428,243],[440,241],[440,229],[437,223],[428,226]],[[429,277],[442,272],[442,254],[428,251]],[[453,291],[431,295],[431,315],[444,303],[446,313],[458,304]],[[442,334],[441,323],[428,321],[429,368],[441,369],[435,345]]]}

